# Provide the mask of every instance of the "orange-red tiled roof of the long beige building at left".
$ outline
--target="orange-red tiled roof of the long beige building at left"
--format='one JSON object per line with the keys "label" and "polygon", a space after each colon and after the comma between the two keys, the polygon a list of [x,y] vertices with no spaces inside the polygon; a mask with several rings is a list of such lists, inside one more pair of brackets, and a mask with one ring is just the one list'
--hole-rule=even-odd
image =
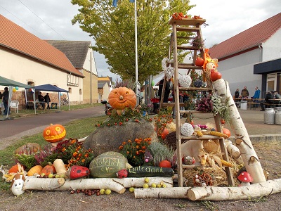
{"label": "orange-red tiled roof of the long beige building at left", "polygon": [[48,63],[48,65],[83,77],[63,52],[55,49],[46,41],[27,32],[27,30],[16,25],[3,15],[0,15],[0,25],[0,46],[18,51],[43,63]]}

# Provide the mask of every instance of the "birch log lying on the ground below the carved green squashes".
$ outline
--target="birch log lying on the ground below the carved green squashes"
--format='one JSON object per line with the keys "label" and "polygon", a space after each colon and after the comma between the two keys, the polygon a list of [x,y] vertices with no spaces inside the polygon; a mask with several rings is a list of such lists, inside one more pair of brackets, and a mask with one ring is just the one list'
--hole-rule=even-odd
{"label": "birch log lying on the ground below the carved green squashes", "polygon": [[[171,177],[148,177],[151,186],[152,183],[159,184],[164,182],[167,187],[173,186]],[[110,189],[117,193],[124,193],[126,188],[132,186],[136,188],[143,187],[144,178],[127,177],[118,178],[96,178],[96,179],[74,179],[65,180],[63,178],[36,178],[27,177],[23,186],[24,190],[40,190],[40,191],[72,191],[80,189]]]}

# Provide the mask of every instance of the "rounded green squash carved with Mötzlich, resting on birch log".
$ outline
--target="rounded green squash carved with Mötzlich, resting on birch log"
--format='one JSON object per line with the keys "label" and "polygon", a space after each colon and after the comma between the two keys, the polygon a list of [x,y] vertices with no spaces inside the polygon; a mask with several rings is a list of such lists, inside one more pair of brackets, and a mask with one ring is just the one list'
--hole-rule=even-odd
{"label": "rounded green squash carved with M\u00f6tzlich, resting on birch log", "polygon": [[94,158],[89,170],[93,178],[113,178],[119,170],[126,169],[128,160],[124,155],[109,151]]}

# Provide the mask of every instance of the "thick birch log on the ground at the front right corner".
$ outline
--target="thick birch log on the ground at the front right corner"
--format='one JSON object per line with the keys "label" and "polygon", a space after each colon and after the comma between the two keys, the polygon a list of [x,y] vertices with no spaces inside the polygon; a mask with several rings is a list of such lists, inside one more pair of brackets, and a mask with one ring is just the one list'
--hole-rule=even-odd
{"label": "thick birch log on the ground at the front right corner", "polygon": [[281,192],[281,179],[274,179],[240,187],[206,186],[190,188],[188,198],[190,200],[242,200],[279,192]]}

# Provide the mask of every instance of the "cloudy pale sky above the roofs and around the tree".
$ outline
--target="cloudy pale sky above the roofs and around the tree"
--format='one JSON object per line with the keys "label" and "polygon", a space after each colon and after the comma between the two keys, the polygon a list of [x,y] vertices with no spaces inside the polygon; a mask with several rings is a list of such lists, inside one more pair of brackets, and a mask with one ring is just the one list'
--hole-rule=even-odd
{"label": "cloudy pale sky above the roofs and around the tree", "polygon": [[[190,0],[192,4],[196,6],[188,15],[200,15],[208,24],[202,27],[207,48],[281,12],[280,0]],[[40,39],[92,41],[94,44],[89,34],[83,32],[78,24],[71,23],[78,8],[70,0],[0,0],[1,15]],[[97,52],[94,52],[94,57],[98,76],[108,75],[115,82],[117,75],[108,70],[105,57]]]}

